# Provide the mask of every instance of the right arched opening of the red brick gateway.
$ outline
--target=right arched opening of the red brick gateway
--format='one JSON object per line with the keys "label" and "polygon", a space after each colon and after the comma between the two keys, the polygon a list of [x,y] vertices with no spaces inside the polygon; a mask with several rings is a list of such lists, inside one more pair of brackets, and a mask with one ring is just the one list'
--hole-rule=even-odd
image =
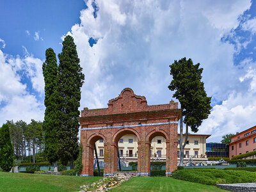
{"label": "right arched opening of the red brick gateway", "polygon": [[166,170],[166,136],[163,132],[154,132],[150,142],[150,175],[165,176]]}

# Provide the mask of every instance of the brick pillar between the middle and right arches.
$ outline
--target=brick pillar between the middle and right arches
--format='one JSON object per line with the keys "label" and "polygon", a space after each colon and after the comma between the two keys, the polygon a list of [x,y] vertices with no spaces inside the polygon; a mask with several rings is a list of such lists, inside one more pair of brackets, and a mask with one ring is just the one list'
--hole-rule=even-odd
{"label": "brick pillar between the middle and right arches", "polygon": [[140,141],[138,143],[138,175],[150,176],[150,143]]}

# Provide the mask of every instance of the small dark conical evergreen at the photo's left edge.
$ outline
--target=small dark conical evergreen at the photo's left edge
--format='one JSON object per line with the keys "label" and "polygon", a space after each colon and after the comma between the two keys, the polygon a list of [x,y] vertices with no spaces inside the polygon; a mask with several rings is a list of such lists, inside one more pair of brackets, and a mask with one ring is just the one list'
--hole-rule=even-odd
{"label": "small dark conical evergreen at the photo's left edge", "polygon": [[10,138],[8,124],[4,124],[0,129],[0,167],[5,172],[10,172],[13,166],[13,145]]}

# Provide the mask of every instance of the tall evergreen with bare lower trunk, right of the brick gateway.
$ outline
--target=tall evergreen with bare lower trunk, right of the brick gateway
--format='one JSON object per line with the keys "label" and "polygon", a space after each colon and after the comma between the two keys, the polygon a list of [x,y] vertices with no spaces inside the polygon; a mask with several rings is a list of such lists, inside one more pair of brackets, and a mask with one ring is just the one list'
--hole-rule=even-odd
{"label": "tall evergreen with bare lower trunk, right of the brick gateway", "polygon": [[[180,166],[183,166],[184,148],[188,140],[188,127],[197,132],[202,121],[211,113],[211,97],[207,97],[204,83],[201,81],[203,68],[200,63],[193,65],[191,59],[182,58],[170,65],[173,77],[168,88],[175,91],[173,97],[179,100],[181,108],[180,118]],[[184,116],[184,120],[183,120]],[[182,142],[183,123],[186,124],[186,137]]]}

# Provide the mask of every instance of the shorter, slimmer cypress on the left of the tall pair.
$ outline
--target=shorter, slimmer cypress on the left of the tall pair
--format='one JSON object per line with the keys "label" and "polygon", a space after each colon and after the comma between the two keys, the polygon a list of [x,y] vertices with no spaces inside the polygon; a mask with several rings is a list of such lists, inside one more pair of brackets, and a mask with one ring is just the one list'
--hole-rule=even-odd
{"label": "shorter, slimmer cypress on the left of the tall pair", "polygon": [[57,131],[60,129],[60,119],[58,116],[58,65],[55,52],[49,48],[45,51],[45,62],[43,64],[43,74],[45,81],[45,116],[43,129],[45,132],[45,153],[50,163],[54,163],[54,171],[58,171],[58,137]]}

